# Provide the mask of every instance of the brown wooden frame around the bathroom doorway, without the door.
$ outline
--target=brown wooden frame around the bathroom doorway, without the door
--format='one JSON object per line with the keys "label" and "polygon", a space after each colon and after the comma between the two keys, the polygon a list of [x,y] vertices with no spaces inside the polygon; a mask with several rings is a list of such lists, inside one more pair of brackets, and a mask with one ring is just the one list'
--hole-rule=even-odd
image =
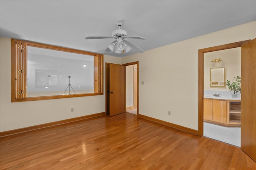
{"label": "brown wooden frame around the bathroom doorway, without the door", "polygon": [[[239,41],[236,43],[218,45],[218,46],[198,50],[198,135],[199,136],[204,135],[204,53],[241,47],[243,44],[248,43],[249,41],[250,39],[245,41]],[[241,70],[242,70],[242,67],[241,67]]]}

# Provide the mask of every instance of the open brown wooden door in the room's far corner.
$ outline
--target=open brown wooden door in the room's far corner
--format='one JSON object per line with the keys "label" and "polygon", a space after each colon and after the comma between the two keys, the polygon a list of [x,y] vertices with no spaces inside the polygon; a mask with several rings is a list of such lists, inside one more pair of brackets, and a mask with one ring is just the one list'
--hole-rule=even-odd
{"label": "open brown wooden door in the room's far corner", "polygon": [[125,67],[109,64],[109,115],[125,112]]}

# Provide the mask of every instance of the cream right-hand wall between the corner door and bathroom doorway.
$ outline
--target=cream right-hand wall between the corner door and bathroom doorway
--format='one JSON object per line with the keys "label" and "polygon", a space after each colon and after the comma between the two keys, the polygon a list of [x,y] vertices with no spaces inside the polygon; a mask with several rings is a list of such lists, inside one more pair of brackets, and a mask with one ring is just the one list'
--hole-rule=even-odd
{"label": "cream right-hand wall between the corner door and bathroom doorway", "polygon": [[139,61],[139,113],[198,130],[198,49],[254,39],[255,30],[256,21],[122,57]]}

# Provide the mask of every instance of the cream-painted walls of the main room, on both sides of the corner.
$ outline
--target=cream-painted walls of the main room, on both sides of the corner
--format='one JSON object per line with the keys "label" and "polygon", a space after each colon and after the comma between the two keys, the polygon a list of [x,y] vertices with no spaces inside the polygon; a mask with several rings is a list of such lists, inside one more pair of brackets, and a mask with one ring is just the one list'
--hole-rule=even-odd
{"label": "cream-painted walls of the main room, on both sides of the corner", "polygon": [[[256,21],[104,63],[139,61],[139,113],[198,130],[198,49],[254,39],[255,30]],[[11,103],[10,38],[0,38],[0,81],[0,131],[105,111],[105,95]]]}

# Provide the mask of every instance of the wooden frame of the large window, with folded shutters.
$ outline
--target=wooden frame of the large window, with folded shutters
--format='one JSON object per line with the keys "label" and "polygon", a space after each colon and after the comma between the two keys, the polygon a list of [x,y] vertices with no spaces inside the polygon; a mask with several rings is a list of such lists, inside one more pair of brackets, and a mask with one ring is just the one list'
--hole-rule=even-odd
{"label": "wooden frame of the large window, with folded shutters", "polygon": [[[27,97],[27,46],[94,56],[94,93]],[[103,95],[103,58],[103,55],[97,53],[91,53],[76,49],[68,49],[65,47],[46,45],[30,41],[11,39],[11,102],[25,102],[34,100],[49,100]]]}

